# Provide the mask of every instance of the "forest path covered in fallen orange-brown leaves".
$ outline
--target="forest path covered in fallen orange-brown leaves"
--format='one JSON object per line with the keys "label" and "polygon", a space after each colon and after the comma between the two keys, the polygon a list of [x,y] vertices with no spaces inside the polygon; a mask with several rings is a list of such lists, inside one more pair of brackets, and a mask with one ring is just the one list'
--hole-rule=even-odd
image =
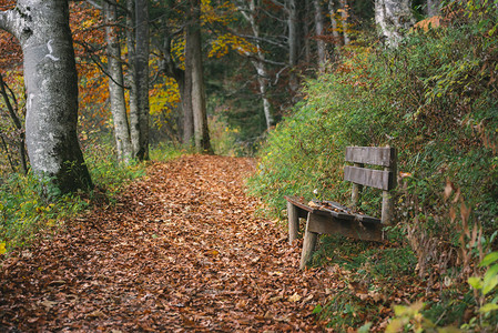
{"label": "forest path covered in fallen orange-brown leaves", "polygon": [[298,271],[301,248],[254,216],[243,190],[253,163],[153,163],[115,206],[6,260],[0,331],[323,331],[312,311],[335,274]]}

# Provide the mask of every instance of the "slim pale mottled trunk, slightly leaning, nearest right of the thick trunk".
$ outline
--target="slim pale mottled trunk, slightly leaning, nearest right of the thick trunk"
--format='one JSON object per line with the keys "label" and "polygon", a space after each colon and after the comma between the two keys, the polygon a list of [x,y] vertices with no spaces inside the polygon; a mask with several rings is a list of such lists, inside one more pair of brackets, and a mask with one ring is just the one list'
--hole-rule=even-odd
{"label": "slim pale mottled trunk, slightly leaning, nearest right of the thick trunk", "polygon": [[128,124],[126,102],[124,99],[124,80],[121,64],[121,44],[118,29],[113,26],[118,22],[115,4],[103,3],[105,18],[105,39],[108,42],[109,67],[109,99],[114,121],[114,139],[118,151],[118,160],[130,163],[133,151]]}

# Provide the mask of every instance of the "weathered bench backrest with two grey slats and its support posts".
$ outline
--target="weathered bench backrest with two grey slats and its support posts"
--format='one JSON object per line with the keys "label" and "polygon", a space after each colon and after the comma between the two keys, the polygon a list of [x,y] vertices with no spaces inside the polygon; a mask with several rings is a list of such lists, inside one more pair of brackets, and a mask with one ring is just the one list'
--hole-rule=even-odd
{"label": "weathered bench backrest with two grey slats and its support posts", "polygon": [[[347,147],[346,162],[354,163],[344,168],[344,179],[353,182],[352,200],[359,201],[362,185],[383,190],[383,223],[389,223],[392,200],[389,191],[396,188],[397,152],[392,147]],[[384,167],[384,170],[365,168]]]}

